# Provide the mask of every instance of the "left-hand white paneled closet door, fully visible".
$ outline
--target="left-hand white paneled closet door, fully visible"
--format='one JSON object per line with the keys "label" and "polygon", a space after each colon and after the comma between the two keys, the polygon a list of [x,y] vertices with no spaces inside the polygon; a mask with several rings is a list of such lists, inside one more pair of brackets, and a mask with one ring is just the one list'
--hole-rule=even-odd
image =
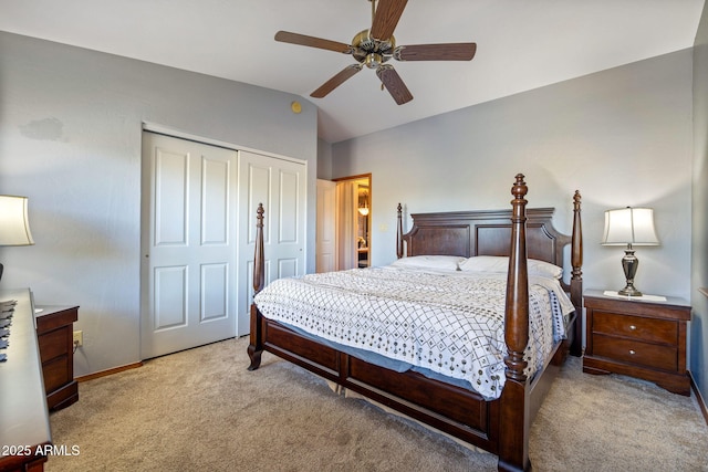
{"label": "left-hand white paneled closet door, fully visible", "polygon": [[236,335],[238,153],[143,134],[142,358]]}

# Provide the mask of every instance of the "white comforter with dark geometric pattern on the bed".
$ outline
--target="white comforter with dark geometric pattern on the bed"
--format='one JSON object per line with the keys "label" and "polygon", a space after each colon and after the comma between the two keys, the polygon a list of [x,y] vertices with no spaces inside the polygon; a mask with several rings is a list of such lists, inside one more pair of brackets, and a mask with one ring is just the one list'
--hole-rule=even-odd
{"label": "white comforter with dark geometric pattern on the bed", "polygon": [[[263,316],[469,382],[504,385],[506,274],[371,268],[280,279],[254,298]],[[543,366],[573,305],[555,280],[530,277],[528,374]]]}

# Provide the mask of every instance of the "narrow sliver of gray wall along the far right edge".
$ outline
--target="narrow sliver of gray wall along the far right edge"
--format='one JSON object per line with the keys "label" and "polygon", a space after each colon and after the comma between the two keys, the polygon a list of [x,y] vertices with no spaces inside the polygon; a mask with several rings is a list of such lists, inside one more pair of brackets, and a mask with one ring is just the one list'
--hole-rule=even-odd
{"label": "narrow sliver of gray wall along the far right edge", "polygon": [[[690,324],[691,373],[705,400],[708,400],[708,8],[698,27],[694,46],[694,231]],[[707,289],[708,290],[708,289]]]}

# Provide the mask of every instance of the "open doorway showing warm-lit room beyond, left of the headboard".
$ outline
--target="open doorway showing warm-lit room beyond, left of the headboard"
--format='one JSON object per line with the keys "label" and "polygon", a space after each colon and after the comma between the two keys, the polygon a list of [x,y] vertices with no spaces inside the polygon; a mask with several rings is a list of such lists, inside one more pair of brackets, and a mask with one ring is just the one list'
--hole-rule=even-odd
{"label": "open doorway showing warm-lit room beyond, left of the headboard", "polygon": [[337,270],[371,265],[372,175],[336,182]]}

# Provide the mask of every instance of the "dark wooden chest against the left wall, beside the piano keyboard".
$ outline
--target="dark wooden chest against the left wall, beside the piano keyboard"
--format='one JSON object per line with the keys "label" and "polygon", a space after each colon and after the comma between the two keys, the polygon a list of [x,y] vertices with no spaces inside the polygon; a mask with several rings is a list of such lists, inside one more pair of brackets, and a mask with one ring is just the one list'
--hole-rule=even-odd
{"label": "dark wooden chest against the left wall, beside the piano keyboard", "polygon": [[35,308],[46,405],[50,410],[59,410],[79,400],[73,342],[79,306],[37,305]]}

